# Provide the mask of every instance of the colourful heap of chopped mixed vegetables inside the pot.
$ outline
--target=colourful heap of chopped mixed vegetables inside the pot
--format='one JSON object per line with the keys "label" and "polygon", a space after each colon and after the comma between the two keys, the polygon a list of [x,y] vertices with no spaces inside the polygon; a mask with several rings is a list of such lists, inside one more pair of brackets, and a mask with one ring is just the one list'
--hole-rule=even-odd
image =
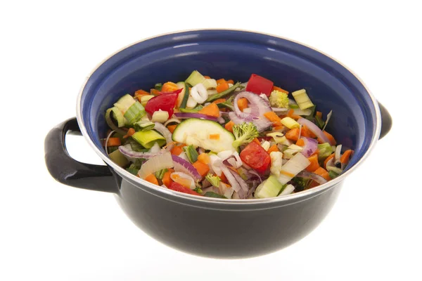
{"label": "colourful heap of chopped mixed vegetables inside the pot", "polygon": [[342,173],[337,145],[307,91],[252,74],[247,83],[193,71],[186,81],[122,96],[106,111],[104,141],[117,165],[191,195],[267,198],[314,188]]}

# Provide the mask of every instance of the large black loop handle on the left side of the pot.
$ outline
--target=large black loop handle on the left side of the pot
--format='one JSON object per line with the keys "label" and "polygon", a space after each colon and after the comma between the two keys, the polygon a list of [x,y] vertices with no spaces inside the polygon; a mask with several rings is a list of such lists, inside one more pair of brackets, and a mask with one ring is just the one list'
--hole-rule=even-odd
{"label": "large black loop handle on the left side of the pot", "polygon": [[75,188],[117,193],[117,182],[108,166],[82,163],[70,157],[65,146],[68,131],[80,132],[75,117],[51,129],[44,141],[46,166],[51,176]]}

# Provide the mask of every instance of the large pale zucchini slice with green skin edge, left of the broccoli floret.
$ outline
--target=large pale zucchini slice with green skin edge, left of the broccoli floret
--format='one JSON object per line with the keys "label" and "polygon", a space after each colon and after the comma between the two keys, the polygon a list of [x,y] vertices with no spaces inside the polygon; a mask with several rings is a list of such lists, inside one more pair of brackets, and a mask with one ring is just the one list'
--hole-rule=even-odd
{"label": "large pale zucchini slice with green skin edge, left of the broccoli floret", "polygon": [[[216,137],[218,135],[218,137]],[[212,137],[210,137],[212,136]],[[205,150],[221,152],[234,150],[232,143],[235,138],[217,122],[203,119],[186,119],[177,125],[173,132],[173,141],[186,143]]]}

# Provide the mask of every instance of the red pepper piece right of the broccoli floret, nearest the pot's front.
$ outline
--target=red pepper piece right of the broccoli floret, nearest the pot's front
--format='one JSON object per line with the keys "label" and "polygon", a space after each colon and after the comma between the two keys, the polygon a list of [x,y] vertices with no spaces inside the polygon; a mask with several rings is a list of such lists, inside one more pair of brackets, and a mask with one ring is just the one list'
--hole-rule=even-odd
{"label": "red pepper piece right of the broccoli floret, nearest the pot's front", "polygon": [[241,152],[242,161],[259,173],[264,173],[271,163],[271,157],[261,145],[252,141]]}

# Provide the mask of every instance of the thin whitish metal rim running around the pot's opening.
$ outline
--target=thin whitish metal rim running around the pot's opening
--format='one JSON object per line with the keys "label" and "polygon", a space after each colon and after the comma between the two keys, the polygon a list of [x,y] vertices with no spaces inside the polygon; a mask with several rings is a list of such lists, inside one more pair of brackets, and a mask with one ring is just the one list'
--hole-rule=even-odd
{"label": "thin whitish metal rim running around the pot's opening", "polygon": [[[96,72],[98,67],[103,65],[103,63],[105,63],[109,58],[113,57],[113,55],[116,55],[117,53],[120,53],[120,51],[123,51],[124,49],[129,48],[130,46],[133,46],[135,44],[141,43],[141,42],[149,40],[149,39],[162,37],[162,36],[165,36],[165,35],[179,34],[179,33],[183,33],[183,32],[201,32],[201,31],[207,31],[207,30],[248,32],[248,33],[252,33],[252,34],[262,34],[262,35],[267,35],[269,37],[276,37],[276,38],[279,38],[279,39],[284,39],[284,40],[287,40],[287,41],[291,41],[295,44],[300,44],[302,46],[310,48],[310,49],[317,51],[317,52],[319,52],[323,55],[326,55],[326,57],[331,58],[331,60],[334,60],[336,63],[343,66],[347,71],[349,71],[351,74],[353,74],[354,77],[357,78],[357,80],[359,80],[359,82],[362,84],[362,86],[364,86],[364,89],[369,93],[369,97],[371,98],[371,100],[373,102],[373,107],[375,108],[375,112],[376,112],[376,130],[375,130],[375,133],[373,134],[373,137],[371,139],[371,143],[369,144],[369,147],[366,150],[366,152],[364,153],[364,155],[359,160],[357,160],[356,164],[354,164],[352,167],[350,167],[350,169],[345,171],[343,174],[340,174],[340,176],[338,176],[337,178],[334,178],[331,181],[328,181],[327,183],[319,185],[316,188],[311,188],[311,189],[308,189],[308,190],[304,190],[304,191],[301,191],[301,192],[298,192],[298,193],[293,193],[293,194],[290,194],[290,195],[285,195],[285,196],[282,196],[282,197],[271,197],[271,198],[262,198],[262,199],[255,199],[254,198],[252,200],[241,200],[241,199],[226,200],[226,199],[213,198],[213,197],[199,197],[199,196],[196,196],[196,195],[188,195],[186,193],[177,192],[177,191],[170,190],[170,189],[165,189],[165,188],[162,188],[161,186],[154,185],[153,183],[149,183],[148,181],[145,181],[145,180],[143,180],[143,179],[141,179],[137,176],[134,176],[133,174],[129,173],[128,171],[125,171],[122,167],[115,164],[109,157],[104,155],[103,151],[99,150],[96,147],[96,145],[94,144],[94,141],[92,141],[91,138],[89,138],[87,129],[85,128],[84,121],[82,119],[82,112],[81,112],[81,106],[80,106],[81,100],[82,100],[82,93],[83,93],[85,86],[87,84],[87,81],[89,80],[91,75],[94,72]],[[132,44],[129,44],[127,46],[124,46],[124,47],[120,48],[119,50],[115,51],[114,53],[112,53],[111,55],[109,55],[107,58],[105,58],[103,61],[101,61],[101,63],[98,63],[98,65],[96,65],[96,67],[94,67],[94,70],[92,70],[89,73],[89,75],[86,77],[84,83],[82,84],[82,87],[79,91],[79,95],[77,96],[76,118],[77,118],[77,123],[79,124],[79,128],[81,129],[82,135],[87,140],[89,145],[91,145],[91,148],[94,149],[96,154],[99,155],[101,157],[101,159],[103,159],[103,161],[106,162],[106,164],[111,166],[111,168],[113,168],[115,171],[117,171],[117,173],[120,174],[122,177],[130,178],[135,183],[139,183],[139,185],[142,185],[146,188],[152,188],[155,191],[162,192],[162,193],[170,195],[170,196],[179,197],[179,199],[181,199],[181,200],[193,200],[193,201],[196,201],[196,202],[213,202],[213,203],[216,203],[216,204],[264,204],[264,203],[276,203],[276,202],[286,202],[286,201],[289,201],[289,200],[297,200],[298,198],[301,198],[301,197],[307,197],[309,195],[314,195],[317,192],[321,192],[323,190],[324,191],[328,190],[328,188],[330,188],[331,186],[336,185],[337,183],[340,183],[340,181],[343,181],[350,173],[352,173],[352,171],[354,171],[354,169],[356,169],[360,164],[362,164],[364,159],[366,159],[366,157],[368,157],[368,155],[373,150],[374,145],[378,141],[378,136],[381,133],[381,110],[379,109],[377,104],[378,104],[378,102],[377,102],[376,98],[373,96],[373,93],[371,93],[371,91],[368,89],[366,84],[364,84],[364,81],[362,81],[362,79],[360,79],[360,77],[357,76],[357,74],[355,74],[352,70],[350,70],[349,67],[347,67],[346,65],[341,63],[339,60],[333,58],[331,55],[324,53],[323,51],[320,51],[317,48],[314,48],[314,47],[309,46],[307,44],[303,44],[302,42],[299,42],[299,41],[295,41],[295,40],[292,40],[292,39],[288,39],[286,37],[281,37],[281,36],[278,36],[278,35],[269,34],[269,33],[265,33],[265,32],[257,32],[257,31],[251,31],[251,30],[241,30],[241,29],[231,29],[231,28],[228,28],[228,29],[205,28],[205,29],[193,29],[193,30],[179,30],[179,31],[174,31],[174,32],[167,32],[167,33],[163,33],[163,34],[158,34],[158,35],[155,35],[153,37],[147,37],[147,38],[141,39],[139,41],[135,41]],[[140,186],[136,186],[136,187],[141,188]],[[305,199],[305,198],[302,198],[302,199]]]}

